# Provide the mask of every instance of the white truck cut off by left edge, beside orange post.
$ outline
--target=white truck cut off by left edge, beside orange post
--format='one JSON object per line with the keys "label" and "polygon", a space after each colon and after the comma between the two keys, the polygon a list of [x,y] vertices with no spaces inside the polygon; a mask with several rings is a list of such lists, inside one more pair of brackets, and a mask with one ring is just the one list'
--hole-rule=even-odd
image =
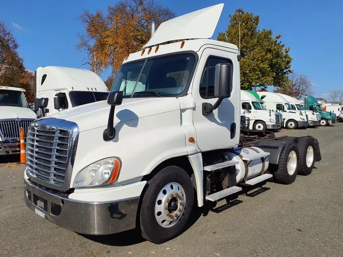
{"label": "white truck cut off by left edge, beside orange post", "polygon": [[0,155],[20,153],[20,127],[26,140],[28,125],[37,119],[24,92],[23,88],[0,86]]}

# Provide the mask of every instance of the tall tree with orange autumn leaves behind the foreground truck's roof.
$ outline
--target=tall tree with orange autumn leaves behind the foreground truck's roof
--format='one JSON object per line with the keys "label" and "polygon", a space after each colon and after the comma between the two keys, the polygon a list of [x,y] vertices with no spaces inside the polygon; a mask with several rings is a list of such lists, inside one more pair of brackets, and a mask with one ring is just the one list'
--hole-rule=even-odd
{"label": "tall tree with orange autumn leaves behind the foreground truck's roof", "polygon": [[155,0],[122,0],[107,6],[107,14],[84,11],[78,19],[85,27],[85,34],[79,34],[77,49],[87,53],[89,63],[96,53],[100,74],[111,67],[112,76],[118,72],[123,59],[139,51],[150,38],[150,23],[158,24],[175,17],[168,8]]}

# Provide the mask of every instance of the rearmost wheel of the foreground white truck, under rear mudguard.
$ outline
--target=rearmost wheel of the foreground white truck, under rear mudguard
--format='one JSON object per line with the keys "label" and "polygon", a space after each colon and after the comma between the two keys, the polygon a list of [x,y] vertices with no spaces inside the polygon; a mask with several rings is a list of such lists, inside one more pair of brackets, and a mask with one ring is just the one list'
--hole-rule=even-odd
{"label": "rearmost wheel of the foreground white truck, under rear mudguard", "polygon": [[311,138],[300,138],[297,143],[299,149],[298,174],[311,174],[315,165],[315,142]]}

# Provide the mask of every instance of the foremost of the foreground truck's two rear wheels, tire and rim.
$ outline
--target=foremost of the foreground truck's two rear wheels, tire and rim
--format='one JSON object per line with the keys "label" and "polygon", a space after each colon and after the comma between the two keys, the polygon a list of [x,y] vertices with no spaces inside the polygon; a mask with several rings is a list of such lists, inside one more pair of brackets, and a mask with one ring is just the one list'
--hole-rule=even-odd
{"label": "foremost of the foreground truck's two rear wheels, tire and rim", "polygon": [[281,153],[278,170],[273,173],[273,180],[280,184],[292,184],[298,174],[299,150],[297,145],[289,141]]}

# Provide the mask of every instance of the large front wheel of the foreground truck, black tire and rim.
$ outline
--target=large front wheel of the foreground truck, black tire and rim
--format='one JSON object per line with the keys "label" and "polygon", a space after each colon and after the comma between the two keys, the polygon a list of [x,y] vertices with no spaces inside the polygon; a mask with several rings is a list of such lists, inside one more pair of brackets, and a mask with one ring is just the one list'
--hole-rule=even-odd
{"label": "large front wheel of the foreground truck, black tire and rim", "polygon": [[150,181],[140,209],[142,236],[157,244],[179,235],[194,205],[190,176],[177,166],[162,169]]}

